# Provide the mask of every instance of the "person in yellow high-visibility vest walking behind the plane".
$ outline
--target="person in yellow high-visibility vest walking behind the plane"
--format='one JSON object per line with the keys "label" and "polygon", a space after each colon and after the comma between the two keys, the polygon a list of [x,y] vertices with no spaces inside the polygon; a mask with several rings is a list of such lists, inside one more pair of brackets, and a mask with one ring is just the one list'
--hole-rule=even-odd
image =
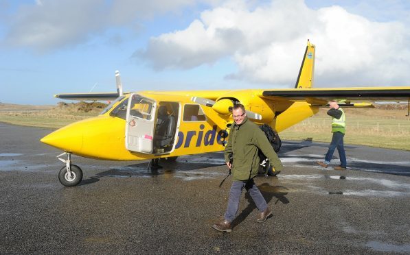
{"label": "person in yellow high-visibility vest walking behind the plane", "polygon": [[317,161],[317,164],[322,167],[328,167],[330,160],[332,159],[334,149],[337,148],[339,151],[340,166],[334,167],[336,170],[346,169],[346,154],[345,147],[343,146],[343,137],[345,136],[346,130],[346,116],[342,108],[336,101],[330,101],[330,110],[328,110],[328,115],[332,117],[332,141],[330,142],[328,153],[326,153],[325,160]]}

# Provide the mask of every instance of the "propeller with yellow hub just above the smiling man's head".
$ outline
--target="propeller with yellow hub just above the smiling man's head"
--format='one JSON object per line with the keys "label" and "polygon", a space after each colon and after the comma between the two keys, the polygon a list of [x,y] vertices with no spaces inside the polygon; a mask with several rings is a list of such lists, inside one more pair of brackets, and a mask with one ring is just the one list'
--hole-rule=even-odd
{"label": "propeller with yellow hub just above the smiling man's head", "polygon": [[[211,99],[203,98],[203,97],[191,97],[191,101],[194,101],[196,104],[201,104],[201,106],[212,107],[212,110],[218,112],[221,115],[229,115],[232,112],[232,108],[234,107],[234,103],[230,99],[220,99],[218,101],[214,101]],[[250,110],[246,110],[247,117],[249,119],[257,119],[261,120],[262,115],[251,112]]]}

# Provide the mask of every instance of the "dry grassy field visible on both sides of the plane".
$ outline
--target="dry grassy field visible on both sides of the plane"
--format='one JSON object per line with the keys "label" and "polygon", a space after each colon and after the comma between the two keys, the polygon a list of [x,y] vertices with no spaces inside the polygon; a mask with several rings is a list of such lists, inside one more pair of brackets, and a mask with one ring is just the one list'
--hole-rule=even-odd
{"label": "dry grassy field visible on both sides of the plane", "polygon": [[[49,127],[56,129],[74,121],[96,116],[104,107],[90,108],[87,104],[65,104],[32,109],[0,107],[0,121],[14,125]],[[9,110],[7,110],[9,109]],[[86,110],[84,110],[86,109]],[[330,142],[331,118],[327,109],[280,133],[282,140]],[[410,150],[410,117],[407,109],[346,108],[345,144],[368,145],[390,149]]]}

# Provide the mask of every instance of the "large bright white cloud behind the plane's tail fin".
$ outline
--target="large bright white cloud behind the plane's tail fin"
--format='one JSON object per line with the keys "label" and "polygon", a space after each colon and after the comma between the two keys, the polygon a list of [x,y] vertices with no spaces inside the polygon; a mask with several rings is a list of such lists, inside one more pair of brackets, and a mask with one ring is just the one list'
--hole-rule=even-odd
{"label": "large bright white cloud behind the plane's tail fin", "polygon": [[405,24],[369,21],[339,6],[313,10],[302,0],[256,8],[229,1],[204,11],[186,29],[151,38],[136,55],[155,69],[190,69],[231,56],[238,73],[227,77],[293,84],[308,38],[317,45],[319,86],[387,85],[410,78]]}

